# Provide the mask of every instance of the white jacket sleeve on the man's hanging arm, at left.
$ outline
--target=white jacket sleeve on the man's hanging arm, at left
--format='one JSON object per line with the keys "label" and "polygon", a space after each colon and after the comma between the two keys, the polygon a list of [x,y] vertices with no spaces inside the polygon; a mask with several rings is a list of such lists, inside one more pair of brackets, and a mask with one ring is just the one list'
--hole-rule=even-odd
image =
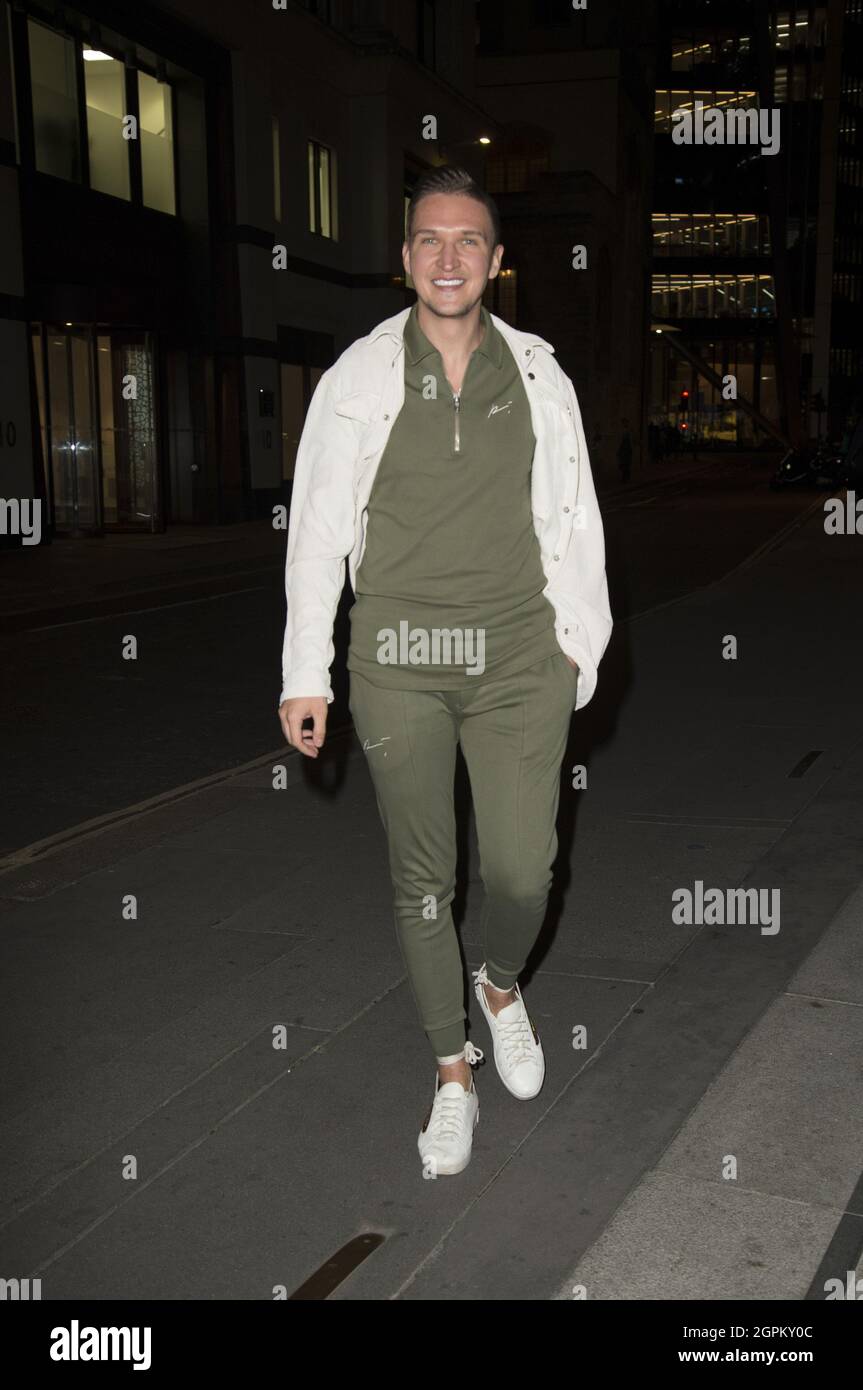
{"label": "white jacket sleeve on the man's hanging arm, at left", "polygon": [[288,614],[282,649],[282,694],[335,699],[329,667],[332,630],[345,587],[345,559],[354,543],[354,425],[336,414],[340,399],[335,367],[318,381],[296,455],[285,598]]}

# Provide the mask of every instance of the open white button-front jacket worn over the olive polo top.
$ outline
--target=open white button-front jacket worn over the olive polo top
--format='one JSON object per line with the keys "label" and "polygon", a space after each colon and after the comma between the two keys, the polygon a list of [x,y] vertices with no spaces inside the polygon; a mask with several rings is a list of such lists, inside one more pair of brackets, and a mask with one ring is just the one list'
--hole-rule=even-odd
{"label": "open white button-front jacket worn over the olive polo top", "polygon": [[[410,310],[357,338],[318,381],[300,438],[288,524],[288,621],[279,703],[332,703],[332,631],[345,585],[356,594],[367,505],[389,431],[404,404],[403,331]],[[535,334],[492,322],[518,363],[536,438],[531,510],[560,648],[578,663],[575,709],[596,689],[611,635],[605,538],[573,382]]]}

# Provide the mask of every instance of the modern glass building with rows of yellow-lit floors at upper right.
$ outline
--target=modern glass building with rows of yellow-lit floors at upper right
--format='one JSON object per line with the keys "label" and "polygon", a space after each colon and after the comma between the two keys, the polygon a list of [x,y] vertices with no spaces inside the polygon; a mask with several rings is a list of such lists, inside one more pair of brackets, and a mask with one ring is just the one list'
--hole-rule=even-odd
{"label": "modern glass building with rows of yellow-lit floors at upper right", "polygon": [[[841,436],[863,370],[862,4],[671,0],[661,18],[652,420],[717,448]],[[778,149],[677,143],[698,103],[773,111]]]}

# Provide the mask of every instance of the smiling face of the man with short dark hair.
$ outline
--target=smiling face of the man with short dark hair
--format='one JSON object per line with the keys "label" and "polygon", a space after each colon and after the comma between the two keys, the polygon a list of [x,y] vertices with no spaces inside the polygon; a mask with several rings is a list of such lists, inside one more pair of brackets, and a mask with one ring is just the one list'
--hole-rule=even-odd
{"label": "smiling face of the man with short dark hair", "polygon": [[402,261],[429,313],[460,318],[475,309],[500,270],[503,246],[492,246],[493,235],[488,210],[467,193],[420,199]]}

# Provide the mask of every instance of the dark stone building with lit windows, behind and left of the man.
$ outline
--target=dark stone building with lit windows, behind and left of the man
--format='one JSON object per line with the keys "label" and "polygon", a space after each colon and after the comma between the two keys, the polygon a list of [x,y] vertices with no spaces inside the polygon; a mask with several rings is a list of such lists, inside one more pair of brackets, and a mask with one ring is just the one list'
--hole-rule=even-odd
{"label": "dark stone building with lit windows, behind and left of the man", "polygon": [[655,83],[624,8],[0,4],[4,495],[46,538],[288,502],[321,373],[413,302],[441,163],[498,199],[488,307],[554,343],[598,471],[638,449]]}

